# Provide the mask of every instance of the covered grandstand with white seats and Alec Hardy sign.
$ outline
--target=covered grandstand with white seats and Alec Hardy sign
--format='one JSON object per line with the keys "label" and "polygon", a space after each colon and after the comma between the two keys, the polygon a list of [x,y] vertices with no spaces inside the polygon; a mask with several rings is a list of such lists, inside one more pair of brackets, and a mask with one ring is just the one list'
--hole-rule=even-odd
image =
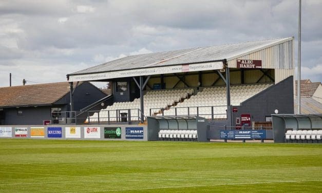
{"label": "covered grandstand with white seats and Alec Hardy sign", "polygon": [[294,112],[293,41],[288,37],[131,55],[67,78],[112,85],[113,103],[88,112],[85,123],[143,123],[148,116],[197,115],[236,126],[242,114],[258,122],[276,109]]}

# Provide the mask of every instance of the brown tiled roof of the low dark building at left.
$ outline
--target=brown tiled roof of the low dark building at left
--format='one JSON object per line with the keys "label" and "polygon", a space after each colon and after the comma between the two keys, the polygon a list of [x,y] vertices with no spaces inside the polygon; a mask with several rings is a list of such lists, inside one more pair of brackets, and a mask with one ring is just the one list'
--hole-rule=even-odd
{"label": "brown tiled roof of the low dark building at left", "polygon": [[0,87],[0,107],[50,105],[69,91],[68,82]]}

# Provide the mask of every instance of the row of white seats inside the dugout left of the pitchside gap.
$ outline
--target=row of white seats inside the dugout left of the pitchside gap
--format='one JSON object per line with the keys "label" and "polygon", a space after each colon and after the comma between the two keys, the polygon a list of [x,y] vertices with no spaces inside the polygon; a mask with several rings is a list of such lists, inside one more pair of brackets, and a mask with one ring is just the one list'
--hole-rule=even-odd
{"label": "row of white seats inside the dugout left of the pitchside gap", "polygon": [[161,129],[158,133],[159,140],[181,140],[181,141],[196,141],[197,137],[197,130],[194,129]]}

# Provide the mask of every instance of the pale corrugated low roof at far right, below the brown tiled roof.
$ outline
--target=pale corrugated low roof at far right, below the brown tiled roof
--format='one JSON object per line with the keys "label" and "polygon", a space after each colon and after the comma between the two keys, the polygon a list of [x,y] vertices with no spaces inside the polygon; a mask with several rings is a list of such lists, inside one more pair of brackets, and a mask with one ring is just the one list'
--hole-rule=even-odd
{"label": "pale corrugated low roof at far right, below the brown tiled roof", "polygon": [[[294,100],[294,112],[297,112],[298,101]],[[322,114],[322,104],[312,98],[301,98],[301,113]]]}

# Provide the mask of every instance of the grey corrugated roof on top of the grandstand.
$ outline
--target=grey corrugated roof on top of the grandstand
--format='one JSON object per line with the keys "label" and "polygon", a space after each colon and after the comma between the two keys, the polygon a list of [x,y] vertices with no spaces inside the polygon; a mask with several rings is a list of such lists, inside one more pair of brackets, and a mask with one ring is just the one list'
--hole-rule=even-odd
{"label": "grey corrugated roof on top of the grandstand", "polygon": [[180,64],[194,64],[223,59],[233,60],[245,54],[253,53],[277,44],[293,40],[293,37],[263,40],[256,42],[243,42],[220,46],[191,48],[184,50],[165,51],[140,55],[130,55],[93,66],[84,70],[73,72],[69,75],[90,74],[117,70],[129,70],[137,68],[159,67]]}

